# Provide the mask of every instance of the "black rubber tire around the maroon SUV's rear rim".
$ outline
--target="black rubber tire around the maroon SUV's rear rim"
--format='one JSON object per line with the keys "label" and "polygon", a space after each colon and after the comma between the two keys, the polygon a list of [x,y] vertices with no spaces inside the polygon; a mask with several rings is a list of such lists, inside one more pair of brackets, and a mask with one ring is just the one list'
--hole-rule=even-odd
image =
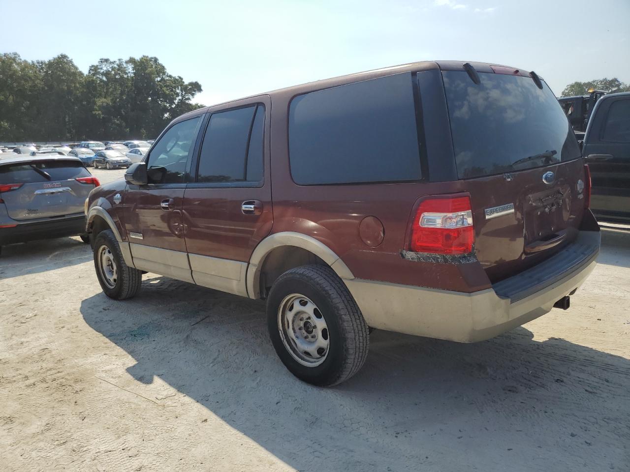
{"label": "black rubber tire around the maroon SUV's rear rim", "polygon": [[[297,361],[280,334],[278,311],[292,294],[312,300],[326,322],[328,351],[319,365],[306,366]],[[282,274],[269,293],[266,312],[273,347],[297,378],[312,385],[331,386],[352,377],[363,366],[370,340],[367,323],[347,287],[330,267],[302,266]]]}

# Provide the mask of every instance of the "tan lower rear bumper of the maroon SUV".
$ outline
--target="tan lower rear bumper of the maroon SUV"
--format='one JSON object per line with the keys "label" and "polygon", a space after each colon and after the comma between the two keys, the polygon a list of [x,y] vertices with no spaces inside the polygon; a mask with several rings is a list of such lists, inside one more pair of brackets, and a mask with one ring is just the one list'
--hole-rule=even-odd
{"label": "tan lower rear bumper of the maroon SUV", "polygon": [[533,295],[510,303],[493,289],[474,293],[396,285],[363,279],[344,282],[373,328],[405,334],[476,342],[513,329],[553,308],[578,288],[595,268],[593,261]]}

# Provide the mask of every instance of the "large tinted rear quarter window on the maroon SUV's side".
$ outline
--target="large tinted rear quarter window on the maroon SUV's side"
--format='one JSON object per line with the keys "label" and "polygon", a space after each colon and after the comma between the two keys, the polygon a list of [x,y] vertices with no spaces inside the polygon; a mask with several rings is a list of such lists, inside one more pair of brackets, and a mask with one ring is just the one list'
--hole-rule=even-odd
{"label": "large tinted rear quarter window on the maroon SUV's side", "polygon": [[420,179],[411,73],[295,97],[289,158],[302,185]]}

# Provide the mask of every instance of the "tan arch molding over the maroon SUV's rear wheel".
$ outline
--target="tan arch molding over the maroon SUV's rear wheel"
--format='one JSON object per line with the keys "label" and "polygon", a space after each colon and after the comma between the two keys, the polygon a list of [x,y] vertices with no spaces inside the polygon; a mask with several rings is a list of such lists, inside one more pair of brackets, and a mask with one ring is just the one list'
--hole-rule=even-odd
{"label": "tan arch molding over the maroon SUV's rear wheel", "polygon": [[255,300],[260,298],[261,266],[265,261],[265,257],[273,249],[282,246],[295,246],[306,249],[326,262],[341,279],[352,280],[355,278],[348,266],[323,242],[302,233],[290,231],[274,233],[263,239],[249,258],[249,266],[247,268],[247,293],[249,298]]}

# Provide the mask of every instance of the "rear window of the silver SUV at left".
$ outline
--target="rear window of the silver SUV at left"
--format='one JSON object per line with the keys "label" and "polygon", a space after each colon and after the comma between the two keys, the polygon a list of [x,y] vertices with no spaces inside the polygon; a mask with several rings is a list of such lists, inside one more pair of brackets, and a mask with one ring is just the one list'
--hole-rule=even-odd
{"label": "rear window of the silver SUV at left", "polygon": [[[48,174],[50,179],[45,174]],[[51,182],[89,175],[91,174],[81,162],[69,160],[38,160],[0,166],[0,184]]]}

